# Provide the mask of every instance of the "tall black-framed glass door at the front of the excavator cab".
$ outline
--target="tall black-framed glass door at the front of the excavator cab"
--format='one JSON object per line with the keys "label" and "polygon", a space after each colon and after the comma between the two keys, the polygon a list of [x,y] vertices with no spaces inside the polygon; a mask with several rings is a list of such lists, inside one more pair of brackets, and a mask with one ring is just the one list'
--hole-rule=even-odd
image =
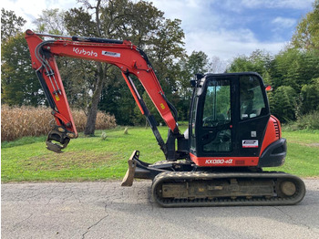
{"label": "tall black-framed glass door at the front of the excavator cab", "polygon": [[206,78],[196,117],[197,156],[230,156],[233,151],[232,76]]}

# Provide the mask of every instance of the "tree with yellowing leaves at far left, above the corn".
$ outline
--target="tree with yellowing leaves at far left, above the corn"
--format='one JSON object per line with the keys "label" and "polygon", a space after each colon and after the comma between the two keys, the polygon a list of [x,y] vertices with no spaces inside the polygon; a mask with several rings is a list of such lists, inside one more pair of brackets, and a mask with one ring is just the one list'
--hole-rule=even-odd
{"label": "tree with yellowing leaves at far left, above the corn", "polygon": [[26,20],[1,9],[1,99],[8,105],[44,103],[44,94],[31,68],[29,50],[20,32]]}

